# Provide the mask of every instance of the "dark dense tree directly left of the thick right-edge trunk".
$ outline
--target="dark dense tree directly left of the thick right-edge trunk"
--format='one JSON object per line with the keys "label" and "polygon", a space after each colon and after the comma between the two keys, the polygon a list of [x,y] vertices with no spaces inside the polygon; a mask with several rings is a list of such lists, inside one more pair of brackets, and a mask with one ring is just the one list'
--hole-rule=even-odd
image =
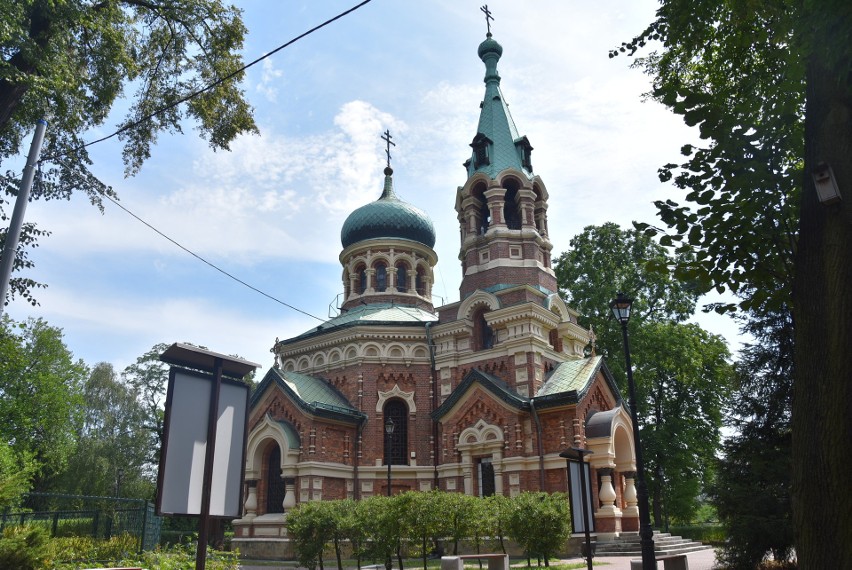
{"label": "dark dense tree directly left of the thick right-edge trunk", "polygon": [[720,560],[751,569],[770,553],[794,554],[791,493],[793,323],[786,311],[752,315],[747,345],[737,363],[737,390],[730,404],[734,435],[719,460],[713,501],[728,540]]}

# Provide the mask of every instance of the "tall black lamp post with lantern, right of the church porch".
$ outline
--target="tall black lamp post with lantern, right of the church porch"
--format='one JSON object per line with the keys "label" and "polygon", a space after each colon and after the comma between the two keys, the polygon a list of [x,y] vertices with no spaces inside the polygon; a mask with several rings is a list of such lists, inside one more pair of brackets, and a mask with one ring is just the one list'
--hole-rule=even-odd
{"label": "tall black lamp post with lantern, right of the church porch", "polygon": [[636,499],[639,502],[639,540],[642,548],[642,570],[657,567],[654,556],[654,531],[651,529],[651,514],[648,509],[648,487],[645,485],[645,462],[642,460],[642,444],[639,441],[639,419],[636,414],[636,386],[633,383],[633,365],[630,363],[630,343],[627,340],[627,321],[633,299],[619,293],[609,304],[615,319],[621,323],[624,338],[624,355],[627,359],[627,388],[630,391],[630,421],[633,423],[633,446],[636,452]]}

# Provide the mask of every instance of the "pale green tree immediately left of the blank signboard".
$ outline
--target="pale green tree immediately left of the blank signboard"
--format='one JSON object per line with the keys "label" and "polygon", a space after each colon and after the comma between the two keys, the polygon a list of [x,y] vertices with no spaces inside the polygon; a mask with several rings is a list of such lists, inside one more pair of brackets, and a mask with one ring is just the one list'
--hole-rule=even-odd
{"label": "pale green tree immediately left of the blank signboard", "polygon": [[150,498],[150,440],[136,392],[119,380],[111,364],[101,362],[83,386],[83,401],[78,446],[60,480],[62,491]]}

